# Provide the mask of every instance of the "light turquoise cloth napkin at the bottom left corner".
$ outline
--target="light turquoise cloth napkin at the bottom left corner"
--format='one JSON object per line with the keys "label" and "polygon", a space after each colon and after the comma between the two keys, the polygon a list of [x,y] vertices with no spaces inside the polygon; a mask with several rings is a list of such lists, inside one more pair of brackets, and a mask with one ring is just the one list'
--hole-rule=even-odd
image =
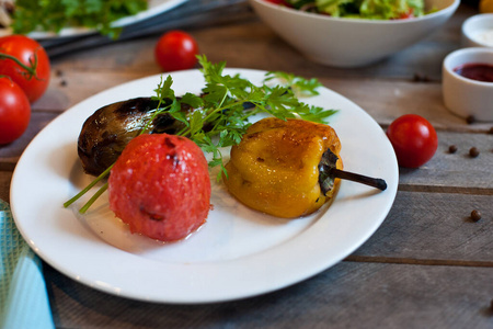
{"label": "light turquoise cloth napkin at the bottom left corner", "polygon": [[42,263],[0,200],[0,328],[55,328]]}

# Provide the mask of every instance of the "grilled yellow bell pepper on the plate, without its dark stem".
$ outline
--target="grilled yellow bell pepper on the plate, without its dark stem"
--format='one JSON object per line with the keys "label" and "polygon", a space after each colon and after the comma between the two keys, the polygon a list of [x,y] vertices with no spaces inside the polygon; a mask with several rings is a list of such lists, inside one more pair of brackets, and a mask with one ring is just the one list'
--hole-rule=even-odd
{"label": "grilled yellow bell pepper on the plate, without its dark stem", "polygon": [[[324,194],[319,184],[318,166],[329,148],[339,157],[341,143],[328,125],[264,118],[250,126],[241,143],[231,148],[223,182],[251,208],[283,218],[305,216],[334,193],[332,189]],[[339,158],[336,168],[342,167]]]}

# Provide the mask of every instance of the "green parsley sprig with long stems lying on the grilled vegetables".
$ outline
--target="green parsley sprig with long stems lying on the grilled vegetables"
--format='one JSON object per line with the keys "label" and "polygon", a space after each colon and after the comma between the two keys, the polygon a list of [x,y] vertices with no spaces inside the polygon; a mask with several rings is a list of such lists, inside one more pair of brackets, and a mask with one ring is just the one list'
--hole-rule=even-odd
{"label": "green parsley sprig with long stems lying on the grilled vegetables", "polygon": [[[169,113],[175,120],[184,123],[185,127],[176,135],[192,139],[205,152],[213,155],[209,166],[221,167],[217,177],[218,180],[221,173],[227,174],[221,148],[241,141],[243,134],[251,125],[249,122],[251,116],[266,113],[282,120],[299,117],[311,122],[326,123],[328,117],[336,112],[335,110],[308,105],[298,99],[296,92],[305,95],[318,94],[317,88],[321,84],[316,79],[305,80],[285,72],[268,72],[264,83],[259,87],[241,78],[240,75],[223,75],[222,71],[226,67],[223,61],[213,64],[207,60],[205,55],[197,58],[202,65],[200,71],[206,80],[206,86],[202,90],[203,94],[186,93],[177,98],[172,89],[173,80],[171,76],[165,79],[161,78],[158,88],[154,90],[156,95],[152,97],[153,100],[159,101],[158,110],[149,122],[152,122],[159,114]],[[268,86],[265,83],[274,78],[284,80],[287,84]],[[186,115],[181,112],[182,103],[188,104],[195,110]],[[169,105],[161,109],[161,104]],[[248,110],[245,110],[246,106]],[[149,132],[144,128],[141,134],[144,133]],[[108,173],[110,170],[106,170],[96,180],[103,179]],[[101,189],[104,191],[106,188],[107,184]],[[64,206],[67,207],[72,204],[89,189],[84,189],[66,202]],[[96,197],[101,193],[100,190],[95,194]],[[94,197],[80,212],[85,212],[92,202],[94,202]]]}

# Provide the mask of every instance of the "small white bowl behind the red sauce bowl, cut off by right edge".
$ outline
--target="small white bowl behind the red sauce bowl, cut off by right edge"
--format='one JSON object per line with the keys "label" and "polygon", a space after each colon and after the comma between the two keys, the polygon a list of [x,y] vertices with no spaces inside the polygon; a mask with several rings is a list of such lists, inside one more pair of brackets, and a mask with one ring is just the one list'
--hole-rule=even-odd
{"label": "small white bowl behind the red sauce bowl, cut off by right edge", "polygon": [[461,44],[463,47],[493,48],[493,13],[467,19],[462,24]]}

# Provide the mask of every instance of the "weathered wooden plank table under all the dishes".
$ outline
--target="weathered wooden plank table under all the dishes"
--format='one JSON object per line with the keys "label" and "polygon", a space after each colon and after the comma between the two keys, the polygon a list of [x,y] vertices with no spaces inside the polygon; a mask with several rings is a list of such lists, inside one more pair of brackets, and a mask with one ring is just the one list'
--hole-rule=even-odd
{"label": "weathered wooden plank table under all the dishes", "polygon": [[[442,100],[444,57],[459,47],[462,4],[439,31],[376,65],[335,69],[308,61],[253,14],[191,27],[202,53],[229,67],[317,77],[381,126],[405,113],[428,118],[439,137],[435,157],[400,169],[393,207],[377,232],[335,266],[282,291],[231,303],[159,305],[98,292],[45,265],[58,328],[492,328],[492,123],[468,124]],[[47,93],[33,105],[28,131],[0,147],[0,198],[30,140],[71,105],[106,88],[159,72],[159,35],[51,58]],[[449,154],[456,145],[458,151]],[[478,158],[469,149],[478,147]],[[482,219],[473,222],[478,209]]]}

